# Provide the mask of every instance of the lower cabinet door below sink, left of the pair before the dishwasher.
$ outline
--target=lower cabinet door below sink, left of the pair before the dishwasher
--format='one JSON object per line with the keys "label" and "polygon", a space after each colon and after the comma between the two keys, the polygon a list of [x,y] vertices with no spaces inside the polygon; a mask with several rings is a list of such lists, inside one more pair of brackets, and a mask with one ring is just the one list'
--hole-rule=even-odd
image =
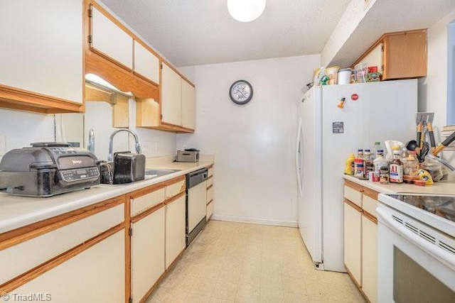
{"label": "lower cabinet door below sink, left of the pair before the dishwasher", "polygon": [[132,224],[131,284],[133,302],[140,302],[164,273],[164,215],[161,207]]}

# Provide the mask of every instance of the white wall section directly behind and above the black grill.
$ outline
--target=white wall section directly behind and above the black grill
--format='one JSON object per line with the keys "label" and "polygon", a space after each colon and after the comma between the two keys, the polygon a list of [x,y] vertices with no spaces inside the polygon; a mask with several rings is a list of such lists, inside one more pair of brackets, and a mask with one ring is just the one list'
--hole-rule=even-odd
{"label": "white wall section directly behind and above the black grill", "polygon": [[0,136],[5,137],[6,151],[54,141],[54,116],[0,109]]}

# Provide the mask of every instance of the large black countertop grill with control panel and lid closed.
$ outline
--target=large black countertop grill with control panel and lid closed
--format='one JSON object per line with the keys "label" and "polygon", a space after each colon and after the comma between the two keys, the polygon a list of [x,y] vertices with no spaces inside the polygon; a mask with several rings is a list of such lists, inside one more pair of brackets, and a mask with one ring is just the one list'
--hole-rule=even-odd
{"label": "large black countertop grill with control panel and lid closed", "polygon": [[0,162],[0,191],[50,197],[100,184],[100,162],[68,143],[32,143],[10,150]]}

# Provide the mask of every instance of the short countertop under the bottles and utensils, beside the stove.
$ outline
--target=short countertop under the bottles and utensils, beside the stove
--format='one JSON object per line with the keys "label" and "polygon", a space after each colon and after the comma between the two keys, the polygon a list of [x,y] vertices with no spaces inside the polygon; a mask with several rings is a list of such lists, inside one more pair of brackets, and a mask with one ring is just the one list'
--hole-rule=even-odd
{"label": "short countertop under the bottles and utensils, beside the stove", "polygon": [[350,182],[368,187],[376,192],[383,194],[435,194],[435,195],[455,195],[455,183],[447,181],[434,182],[433,185],[417,186],[414,184],[380,184],[380,182],[370,182],[360,180],[350,175],[344,175],[343,178]]}

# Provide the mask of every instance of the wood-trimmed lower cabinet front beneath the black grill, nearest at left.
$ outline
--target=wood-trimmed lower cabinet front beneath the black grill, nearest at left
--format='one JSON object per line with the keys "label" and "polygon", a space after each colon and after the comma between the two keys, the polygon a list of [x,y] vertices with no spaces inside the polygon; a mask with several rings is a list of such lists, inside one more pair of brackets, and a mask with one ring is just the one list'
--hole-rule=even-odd
{"label": "wood-trimmed lower cabinet front beneath the black grill, nearest at left", "polygon": [[125,198],[1,233],[0,293],[46,292],[55,302],[125,302]]}

